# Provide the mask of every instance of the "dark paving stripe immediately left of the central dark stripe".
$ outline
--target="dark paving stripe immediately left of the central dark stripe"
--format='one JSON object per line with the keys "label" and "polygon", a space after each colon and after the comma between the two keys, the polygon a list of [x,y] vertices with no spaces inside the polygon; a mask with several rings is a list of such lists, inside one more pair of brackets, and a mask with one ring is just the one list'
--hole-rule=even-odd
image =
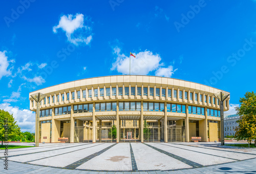
{"label": "dark paving stripe immediately left of the central dark stripe", "polygon": [[113,147],[113,146],[116,145],[116,144],[117,144],[117,143],[115,143],[115,144],[113,144],[113,145],[111,145],[111,146],[109,146],[109,147],[106,147],[106,148],[104,148],[104,149],[98,151],[97,153],[94,153],[94,154],[92,154],[92,155],[90,155],[90,156],[88,156],[88,157],[86,157],[86,158],[83,158],[83,159],[81,159],[81,160],[78,160],[78,161],[76,161],[76,162],[70,164],[70,165],[67,165],[66,167],[63,167],[63,169],[70,169],[70,170],[73,170],[73,169],[75,169],[76,167],[78,167],[79,165],[82,165],[83,163],[86,163],[87,161],[93,159],[94,157],[97,157],[97,156],[99,156],[100,154],[104,153],[106,150],[110,149],[111,147]]}

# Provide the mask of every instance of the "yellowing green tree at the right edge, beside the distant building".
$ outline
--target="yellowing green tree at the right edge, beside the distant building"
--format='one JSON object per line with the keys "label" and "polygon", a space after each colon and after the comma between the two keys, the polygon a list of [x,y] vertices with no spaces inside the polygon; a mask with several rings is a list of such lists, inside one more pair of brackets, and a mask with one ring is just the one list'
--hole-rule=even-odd
{"label": "yellowing green tree at the right edge, beside the distant building", "polygon": [[256,146],[256,94],[254,92],[245,93],[245,97],[240,98],[240,107],[236,108],[237,114],[240,116],[239,126],[236,127],[237,140],[247,140],[251,144],[254,139]]}

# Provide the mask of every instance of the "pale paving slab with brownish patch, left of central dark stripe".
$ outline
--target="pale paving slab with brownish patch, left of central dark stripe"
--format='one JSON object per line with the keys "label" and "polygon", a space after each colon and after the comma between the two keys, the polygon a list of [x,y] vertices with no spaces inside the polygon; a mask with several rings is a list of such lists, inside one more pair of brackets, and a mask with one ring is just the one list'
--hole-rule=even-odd
{"label": "pale paving slab with brownish patch, left of central dark stripe", "polygon": [[118,143],[101,155],[77,167],[77,169],[88,170],[102,170],[102,168],[117,171],[132,170],[130,143]]}

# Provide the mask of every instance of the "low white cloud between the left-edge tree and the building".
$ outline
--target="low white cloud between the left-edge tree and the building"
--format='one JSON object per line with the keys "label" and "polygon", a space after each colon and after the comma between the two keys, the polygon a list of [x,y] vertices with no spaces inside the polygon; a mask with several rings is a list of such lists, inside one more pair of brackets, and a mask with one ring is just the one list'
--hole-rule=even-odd
{"label": "low white cloud between the left-edge tree and the building", "polygon": [[0,109],[13,114],[15,121],[22,132],[35,132],[35,113],[29,110],[20,110],[17,106],[11,106],[10,103],[1,103]]}

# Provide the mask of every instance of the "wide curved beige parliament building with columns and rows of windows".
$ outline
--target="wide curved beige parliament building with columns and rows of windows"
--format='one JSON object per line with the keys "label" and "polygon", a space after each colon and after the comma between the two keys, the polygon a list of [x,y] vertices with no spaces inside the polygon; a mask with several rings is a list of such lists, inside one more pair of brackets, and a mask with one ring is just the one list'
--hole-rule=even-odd
{"label": "wide curved beige parliament building with columns and rows of windows", "polygon": [[[71,81],[31,92],[40,102],[39,142],[220,141],[221,90],[167,77],[116,75]],[[229,110],[229,98],[224,111]]]}

